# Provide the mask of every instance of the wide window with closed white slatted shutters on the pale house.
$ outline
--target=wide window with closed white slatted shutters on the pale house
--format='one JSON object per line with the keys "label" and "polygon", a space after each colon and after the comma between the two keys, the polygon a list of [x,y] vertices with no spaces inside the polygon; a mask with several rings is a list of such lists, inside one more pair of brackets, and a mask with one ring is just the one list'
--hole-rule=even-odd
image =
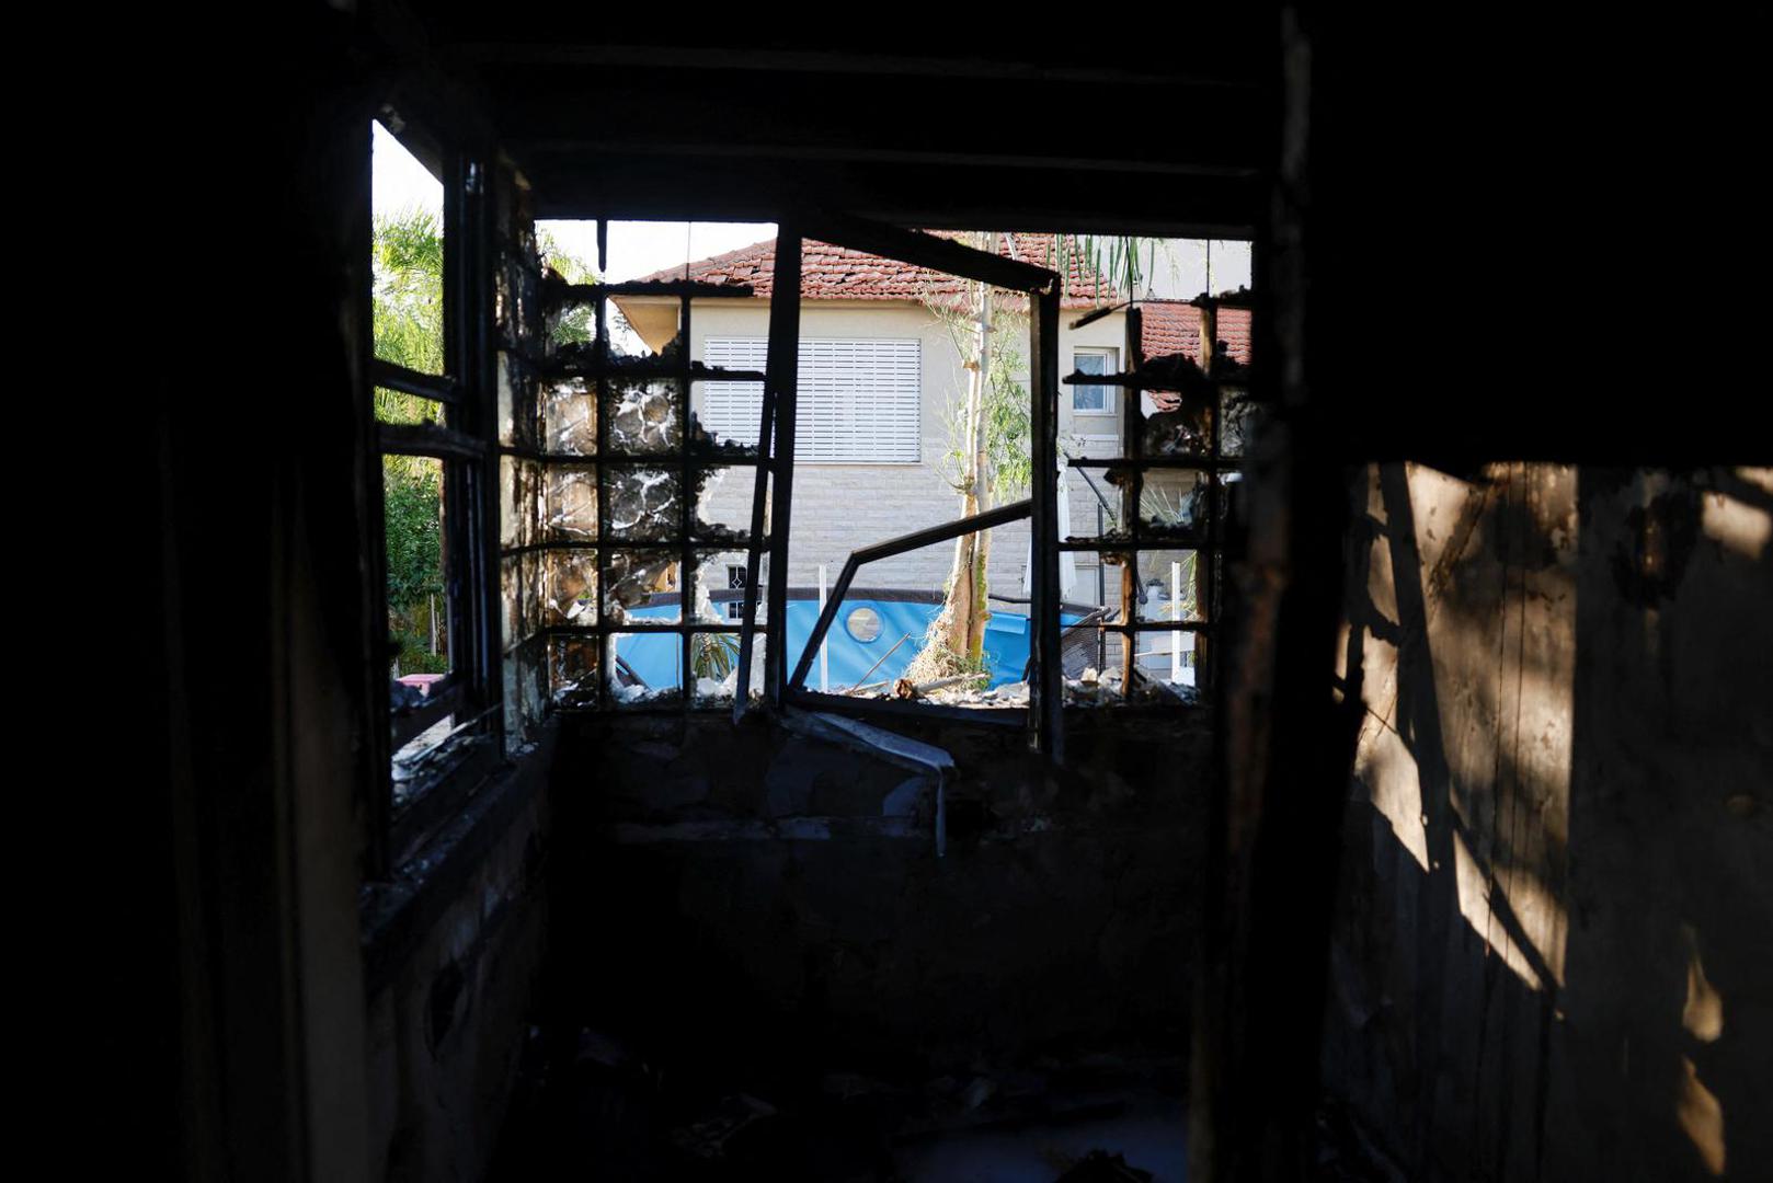
{"label": "wide window with closed white slatted shutters on the pale house", "polygon": [[[769,353],[762,337],[709,337],[706,362],[761,371]],[[920,415],[924,356],[917,339],[800,341],[794,426],[798,463],[915,465],[922,459]],[[702,422],[715,433],[757,442],[764,387],[709,385]]]}

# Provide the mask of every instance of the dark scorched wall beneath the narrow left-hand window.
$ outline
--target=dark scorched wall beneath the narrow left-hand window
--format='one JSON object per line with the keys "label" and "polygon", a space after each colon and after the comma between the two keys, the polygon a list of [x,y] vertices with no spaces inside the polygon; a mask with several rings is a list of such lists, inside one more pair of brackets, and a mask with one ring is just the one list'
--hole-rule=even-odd
{"label": "dark scorched wall beneath the narrow left-hand window", "polygon": [[[512,775],[541,780],[546,770]],[[379,935],[399,947],[379,958],[367,1006],[371,1178],[482,1178],[511,1105],[543,972],[546,798],[482,821],[493,830],[482,850],[463,827],[457,878],[445,866],[450,835],[431,848],[436,866],[420,857],[411,869],[436,876],[408,905],[436,889],[427,921],[404,936],[397,922]],[[376,967],[374,947],[371,960]]]}

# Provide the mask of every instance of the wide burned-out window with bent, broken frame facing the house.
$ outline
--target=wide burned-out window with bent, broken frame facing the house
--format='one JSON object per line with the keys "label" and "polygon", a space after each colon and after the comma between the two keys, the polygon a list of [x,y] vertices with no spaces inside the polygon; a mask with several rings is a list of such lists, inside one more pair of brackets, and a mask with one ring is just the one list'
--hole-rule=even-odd
{"label": "wide burned-out window with bent, broken frame facing the house", "polygon": [[[1053,236],[846,218],[606,282],[608,225],[592,225],[585,275],[521,241],[500,268],[518,734],[548,708],[743,711],[743,685],[775,704],[1027,722],[1057,752],[1066,701],[1199,701],[1248,426],[1246,344],[1215,362],[1222,332],[1202,325],[1236,302],[1110,291],[1074,261],[1062,282],[1043,266]],[[805,316],[778,298],[805,291],[803,264],[819,277]],[[892,298],[833,309],[851,282]],[[922,307],[902,298],[920,284]],[[1174,330],[1181,307],[1193,351],[1147,348],[1140,317]],[[1060,309],[1090,312],[1064,325]],[[972,443],[933,438],[945,374],[968,392],[947,417]],[[963,562],[980,571],[975,610],[956,660],[931,660],[973,587]]]}

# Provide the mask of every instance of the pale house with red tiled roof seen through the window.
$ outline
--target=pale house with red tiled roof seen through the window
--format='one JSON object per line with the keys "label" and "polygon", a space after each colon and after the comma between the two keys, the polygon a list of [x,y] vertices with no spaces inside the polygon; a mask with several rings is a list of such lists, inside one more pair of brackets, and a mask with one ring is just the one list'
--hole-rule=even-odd
{"label": "pale house with red tiled roof seen through the window", "polygon": [[[1005,234],[1000,245],[1028,262],[1046,264],[1050,236]],[[691,307],[691,356],[729,369],[762,369],[769,333],[775,241],[732,250],[674,268],[647,280],[691,278],[706,284],[748,286],[748,300],[699,300]],[[961,513],[959,495],[943,477],[952,450],[954,408],[965,403],[966,369],[949,328],[926,302],[957,303],[965,284],[855,250],[808,241],[801,261],[800,399],[794,466],[794,518],[789,546],[789,584],[812,587],[823,564],[835,580],[849,552],[920,527],[949,521]],[[629,326],[658,351],[677,332],[674,298],[617,296]],[[1126,314],[1110,312],[1073,328],[1083,312],[1113,303],[1094,277],[1074,270],[1064,294],[1058,337],[1062,374],[1112,374],[1126,369]],[[1144,353],[1186,353],[1199,358],[1199,310],[1181,302],[1140,302]],[[1027,319],[1005,323],[1007,341],[1021,355],[1027,376]],[[1248,319],[1227,312],[1220,339],[1239,360],[1248,360]],[[961,346],[965,348],[963,337]],[[1119,454],[1119,387],[1060,387],[1060,450],[1073,456]],[[722,438],[755,442],[761,383],[697,383],[691,408],[702,426]],[[1151,410],[1147,399],[1147,411]],[[1113,490],[1097,488],[1108,500]],[[1090,536],[1097,527],[1097,498],[1087,481],[1069,474],[1069,534]],[[752,500],[752,470],[734,468],[704,493],[702,516],[743,523]],[[954,544],[863,568],[858,587],[940,592]],[[743,555],[723,557],[734,564]],[[993,530],[989,585],[993,594],[1025,596],[1028,527],[1025,521]],[[1069,575],[1069,571],[1067,571]],[[1076,555],[1066,599],[1101,603],[1094,555]],[[1117,584],[1108,582],[1115,599]]]}

